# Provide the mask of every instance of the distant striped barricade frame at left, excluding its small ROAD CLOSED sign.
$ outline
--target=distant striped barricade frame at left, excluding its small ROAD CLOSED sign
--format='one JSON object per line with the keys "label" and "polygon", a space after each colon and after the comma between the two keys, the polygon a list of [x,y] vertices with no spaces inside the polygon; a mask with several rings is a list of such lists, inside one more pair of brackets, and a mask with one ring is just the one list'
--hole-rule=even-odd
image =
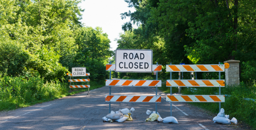
{"label": "distant striped barricade frame at left, excluding its small ROAD CLOSED sign", "polygon": [[[88,88],[88,94],[89,94],[89,88],[90,88],[89,75],[90,75],[90,73],[86,73],[87,79],[71,79],[72,74],[67,73],[67,75],[70,77],[70,79],[68,79],[68,82],[70,82],[70,86],[69,86],[70,91],[71,91],[71,88]],[[71,85],[71,82],[87,82],[88,85]]]}

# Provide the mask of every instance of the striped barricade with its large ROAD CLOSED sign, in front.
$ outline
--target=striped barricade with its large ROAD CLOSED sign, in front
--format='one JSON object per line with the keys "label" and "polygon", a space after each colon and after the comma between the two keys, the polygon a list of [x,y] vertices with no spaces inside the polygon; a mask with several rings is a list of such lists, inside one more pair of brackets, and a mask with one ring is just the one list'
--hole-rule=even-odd
{"label": "striped barricade with its large ROAD CLOSED sign, in front", "polygon": [[155,103],[157,113],[157,103],[161,102],[161,96],[156,93],[152,95],[111,95],[111,87],[161,87],[161,80],[138,80],[138,79],[111,79],[111,71],[115,72],[145,72],[162,71],[162,65],[152,65],[152,50],[138,49],[117,49],[115,50],[115,64],[107,64],[106,71],[110,71],[110,79],[106,79],[106,86],[110,87],[110,94],[105,96],[105,101],[109,102],[109,113],[111,102],[144,102]]}

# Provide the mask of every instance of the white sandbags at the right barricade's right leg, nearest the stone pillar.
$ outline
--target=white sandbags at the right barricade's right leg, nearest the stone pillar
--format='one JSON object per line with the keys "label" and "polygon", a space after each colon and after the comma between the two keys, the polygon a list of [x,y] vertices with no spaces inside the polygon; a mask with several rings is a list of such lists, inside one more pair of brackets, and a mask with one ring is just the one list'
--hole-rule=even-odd
{"label": "white sandbags at the right barricade's right leg, nearest the stone pillar", "polygon": [[213,118],[213,121],[214,123],[220,124],[231,124],[231,122],[237,124],[237,119],[235,117],[229,120],[229,115],[225,115],[223,108],[221,108],[219,114]]}

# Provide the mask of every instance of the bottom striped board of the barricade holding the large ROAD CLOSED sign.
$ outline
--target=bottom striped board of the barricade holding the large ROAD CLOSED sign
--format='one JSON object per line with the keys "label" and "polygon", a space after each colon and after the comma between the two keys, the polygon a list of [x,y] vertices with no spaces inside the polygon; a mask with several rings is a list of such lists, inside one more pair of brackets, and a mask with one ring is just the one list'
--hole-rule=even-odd
{"label": "bottom striped board of the barricade holding the large ROAD CLOSED sign", "polygon": [[161,95],[140,96],[140,95],[106,95],[106,102],[136,102],[136,103],[160,103]]}

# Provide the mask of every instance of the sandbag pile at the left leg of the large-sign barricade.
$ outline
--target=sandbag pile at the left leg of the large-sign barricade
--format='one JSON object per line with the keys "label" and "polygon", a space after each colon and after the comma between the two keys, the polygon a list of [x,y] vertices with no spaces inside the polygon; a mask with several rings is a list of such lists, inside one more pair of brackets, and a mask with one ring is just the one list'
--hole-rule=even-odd
{"label": "sandbag pile at the left leg of the large-sign barricade", "polygon": [[115,122],[124,122],[124,121],[132,121],[131,112],[135,111],[134,108],[131,108],[130,110],[128,108],[120,109],[119,111],[111,111],[110,114],[103,117],[103,121],[107,121],[112,123]]}

